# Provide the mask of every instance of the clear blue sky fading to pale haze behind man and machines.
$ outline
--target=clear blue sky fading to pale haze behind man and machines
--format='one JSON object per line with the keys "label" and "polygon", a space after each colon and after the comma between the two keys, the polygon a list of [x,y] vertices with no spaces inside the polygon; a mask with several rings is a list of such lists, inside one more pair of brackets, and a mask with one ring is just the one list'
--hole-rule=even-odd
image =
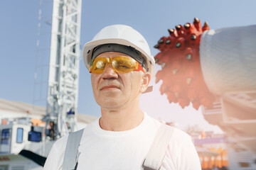
{"label": "clear blue sky fading to pale haze behind man and machines", "polygon": [[[52,0],[43,0],[43,4]],[[256,1],[82,1],[81,47],[90,41],[103,27],[112,24],[126,24],[138,30],[149,43],[152,55],[158,50],[154,45],[162,36],[168,35],[168,28],[192,22],[198,17],[208,21],[211,29],[247,26],[256,24]],[[38,39],[39,0],[0,1],[0,98],[33,103],[33,82],[36,67]],[[43,13],[51,16],[51,8],[43,8]],[[46,17],[46,18],[47,18]],[[50,43],[50,42],[49,42]],[[159,67],[157,67],[159,69]],[[45,74],[47,76],[47,72]],[[198,124],[206,130],[218,128],[208,125],[201,111],[191,106],[181,109],[170,104],[166,96],[159,93],[159,84],[154,91],[143,94],[141,106],[154,118],[175,121],[180,128]],[[37,91],[38,92],[38,91]],[[36,93],[36,92],[34,92]],[[46,102],[43,101],[41,105]],[[80,60],[80,83],[78,112],[100,116],[100,107],[93,98],[90,74]]]}

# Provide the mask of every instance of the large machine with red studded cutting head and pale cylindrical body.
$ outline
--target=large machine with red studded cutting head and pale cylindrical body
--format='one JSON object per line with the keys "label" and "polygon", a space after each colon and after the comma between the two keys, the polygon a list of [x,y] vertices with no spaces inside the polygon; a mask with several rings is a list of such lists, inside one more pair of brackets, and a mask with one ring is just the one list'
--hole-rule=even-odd
{"label": "large machine with red studded cutting head and pale cylindrical body", "polygon": [[256,26],[210,30],[195,18],[168,31],[154,46],[161,94],[182,108],[202,106],[228,136],[230,169],[256,169]]}

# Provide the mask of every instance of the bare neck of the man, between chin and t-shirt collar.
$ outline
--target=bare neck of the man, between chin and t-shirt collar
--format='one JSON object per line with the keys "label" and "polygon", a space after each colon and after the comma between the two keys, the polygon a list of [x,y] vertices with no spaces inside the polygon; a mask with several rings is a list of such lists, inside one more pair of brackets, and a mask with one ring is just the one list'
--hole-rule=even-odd
{"label": "bare neck of the man, between chin and t-shirt collar", "polygon": [[136,128],[144,118],[139,101],[120,108],[101,108],[100,127],[103,130],[124,131]]}

